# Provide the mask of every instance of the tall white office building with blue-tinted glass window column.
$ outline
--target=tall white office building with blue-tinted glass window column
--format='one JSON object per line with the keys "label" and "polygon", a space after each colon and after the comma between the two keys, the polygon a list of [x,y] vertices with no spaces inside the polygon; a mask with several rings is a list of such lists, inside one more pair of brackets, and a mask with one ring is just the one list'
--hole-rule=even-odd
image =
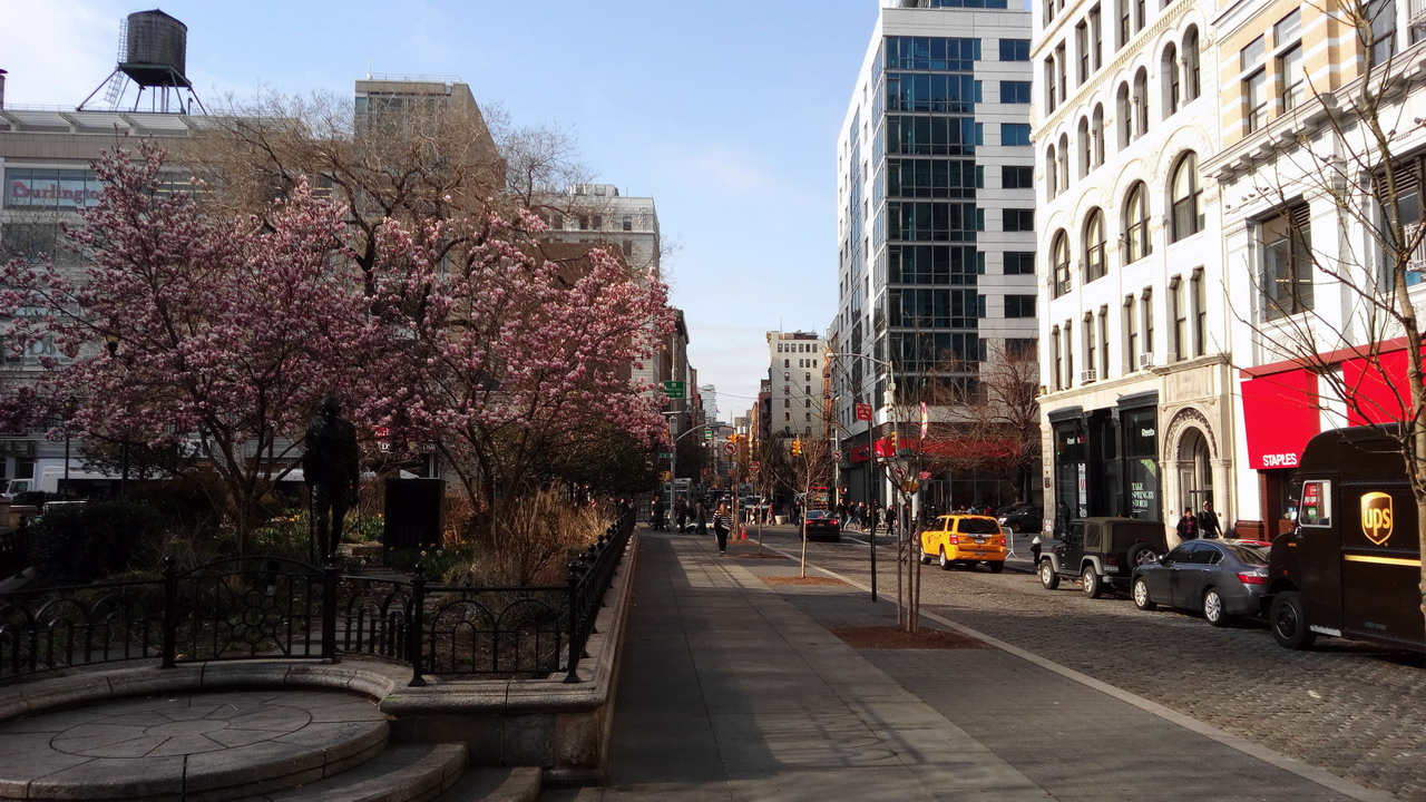
{"label": "tall white office building with blue-tinted glass window column", "polygon": [[[974,397],[987,360],[1035,347],[1030,34],[1031,16],[1005,0],[883,1],[837,143],[829,335],[844,355],[829,394],[853,499],[868,487],[887,499],[881,472],[866,471],[888,451],[891,374],[901,405],[931,378]],[[874,420],[858,421],[857,404]],[[1017,495],[975,468],[928,485],[940,507]]]}

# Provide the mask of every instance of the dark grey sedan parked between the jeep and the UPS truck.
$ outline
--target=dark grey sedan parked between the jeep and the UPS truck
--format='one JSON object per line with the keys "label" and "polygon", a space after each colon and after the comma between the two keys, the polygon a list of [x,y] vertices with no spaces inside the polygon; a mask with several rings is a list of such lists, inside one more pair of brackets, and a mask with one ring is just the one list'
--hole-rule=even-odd
{"label": "dark grey sedan parked between the jeep and the UPS truck", "polygon": [[1186,541],[1164,559],[1134,569],[1131,594],[1139,609],[1158,605],[1202,612],[1214,626],[1233,615],[1258,615],[1268,587],[1262,541]]}

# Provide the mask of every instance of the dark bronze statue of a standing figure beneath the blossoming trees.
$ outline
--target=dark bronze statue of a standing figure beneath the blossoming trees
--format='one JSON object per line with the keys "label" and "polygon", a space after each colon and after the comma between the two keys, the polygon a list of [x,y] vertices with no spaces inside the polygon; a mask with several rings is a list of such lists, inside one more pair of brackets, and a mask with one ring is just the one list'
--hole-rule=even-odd
{"label": "dark bronze statue of a standing figure beneath the blossoming trees", "polygon": [[331,559],[342,542],[342,518],[347,508],[356,504],[361,471],[356,428],[337,417],[341,408],[335,395],[322,398],[322,414],[307,424],[304,441],[302,475],[312,494],[312,521],[322,561]]}

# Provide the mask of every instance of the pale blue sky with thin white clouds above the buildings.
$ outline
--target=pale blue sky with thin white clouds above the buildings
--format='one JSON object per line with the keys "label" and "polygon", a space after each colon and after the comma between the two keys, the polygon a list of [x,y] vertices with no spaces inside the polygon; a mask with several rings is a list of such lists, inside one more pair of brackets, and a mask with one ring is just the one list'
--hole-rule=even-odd
{"label": "pale blue sky with thin white clouds above the buildings", "polygon": [[[200,100],[351,96],[368,73],[471,84],[569,131],[596,183],[652,196],[689,360],[742,415],[766,333],[836,314],[836,144],[878,0],[167,0]],[[0,0],[6,106],[78,106],[130,0]]]}

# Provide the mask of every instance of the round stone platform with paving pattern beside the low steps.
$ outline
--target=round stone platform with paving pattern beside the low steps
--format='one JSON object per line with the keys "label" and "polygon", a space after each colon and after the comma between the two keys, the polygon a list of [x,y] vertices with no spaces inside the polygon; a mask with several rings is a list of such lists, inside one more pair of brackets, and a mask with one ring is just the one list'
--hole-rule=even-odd
{"label": "round stone platform with paving pattern beside the low steps", "polygon": [[121,699],[0,724],[0,799],[241,796],[335,773],[385,741],[386,716],[355,694]]}

